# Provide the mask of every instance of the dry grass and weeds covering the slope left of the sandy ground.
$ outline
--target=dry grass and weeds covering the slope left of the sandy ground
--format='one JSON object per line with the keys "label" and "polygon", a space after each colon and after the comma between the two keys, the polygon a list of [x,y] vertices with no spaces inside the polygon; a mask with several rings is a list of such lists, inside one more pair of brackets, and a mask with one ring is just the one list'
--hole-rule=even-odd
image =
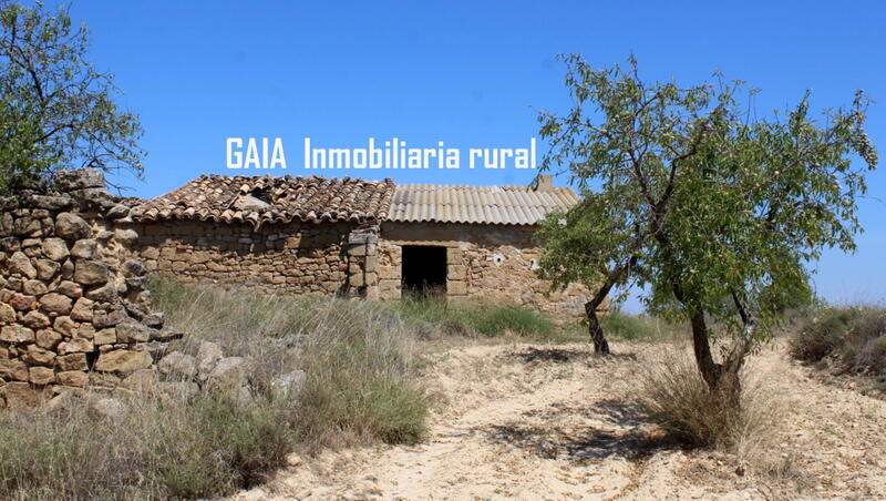
{"label": "dry grass and weeds covering the slope left of the sandy ground", "polygon": [[[156,307],[188,335],[256,360],[255,397],[126,399],[111,419],[85,401],[0,415],[0,498],[213,498],[265,481],[299,448],[413,443],[427,402],[415,385],[415,331],[362,301],[282,298],[152,283]],[[306,371],[298,395],[275,378]]]}

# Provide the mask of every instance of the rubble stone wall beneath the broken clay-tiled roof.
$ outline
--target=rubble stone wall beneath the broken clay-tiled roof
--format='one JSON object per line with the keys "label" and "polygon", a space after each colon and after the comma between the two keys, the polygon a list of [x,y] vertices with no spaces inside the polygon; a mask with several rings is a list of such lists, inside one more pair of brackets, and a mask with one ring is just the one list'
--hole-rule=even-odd
{"label": "rubble stone wall beneath the broken clay-tiled roof", "polygon": [[148,272],[182,282],[253,286],[271,293],[340,294],[348,284],[347,223],[251,225],[200,221],[117,224]]}

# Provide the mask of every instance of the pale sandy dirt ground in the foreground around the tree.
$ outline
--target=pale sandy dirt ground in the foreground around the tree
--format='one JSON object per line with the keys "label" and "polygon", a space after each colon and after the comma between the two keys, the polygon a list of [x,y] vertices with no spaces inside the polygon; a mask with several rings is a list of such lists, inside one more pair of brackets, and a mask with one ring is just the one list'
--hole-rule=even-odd
{"label": "pale sandy dirt ground in the foreground around the tree", "polygon": [[687,449],[631,409],[638,367],[660,342],[466,346],[430,357],[439,405],[415,447],[291,458],[238,500],[289,499],[886,499],[886,401],[827,384],[783,344],[753,368],[779,385],[790,415],[763,461]]}

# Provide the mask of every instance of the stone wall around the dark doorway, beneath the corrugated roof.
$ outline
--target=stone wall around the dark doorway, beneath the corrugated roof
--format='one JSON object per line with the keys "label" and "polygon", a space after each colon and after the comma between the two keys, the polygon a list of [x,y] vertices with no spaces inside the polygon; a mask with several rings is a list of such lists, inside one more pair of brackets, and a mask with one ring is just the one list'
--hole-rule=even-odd
{"label": "stone wall around the dark doorway, beneath the corrugated roof", "polygon": [[535,275],[539,247],[533,227],[437,223],[384,223],[378,250],[382,299],[401,296],[404,245],[446,247],[446,296],[452,300],[516,304],[555,317],[584,316],[588,292],[570,285],[550,293]]}

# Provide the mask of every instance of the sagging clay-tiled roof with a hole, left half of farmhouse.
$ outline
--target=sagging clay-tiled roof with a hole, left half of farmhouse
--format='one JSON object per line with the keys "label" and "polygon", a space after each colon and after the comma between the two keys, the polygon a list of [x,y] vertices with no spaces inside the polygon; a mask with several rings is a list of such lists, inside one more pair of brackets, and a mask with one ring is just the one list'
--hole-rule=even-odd
{"label": "sagging clay-tiled roof with a hole, left half of farmhouse", "polygon": [[380,221],[388,215],[392,180],[202,175],[133,207],[133,221],[198,219],[225,223]]}

